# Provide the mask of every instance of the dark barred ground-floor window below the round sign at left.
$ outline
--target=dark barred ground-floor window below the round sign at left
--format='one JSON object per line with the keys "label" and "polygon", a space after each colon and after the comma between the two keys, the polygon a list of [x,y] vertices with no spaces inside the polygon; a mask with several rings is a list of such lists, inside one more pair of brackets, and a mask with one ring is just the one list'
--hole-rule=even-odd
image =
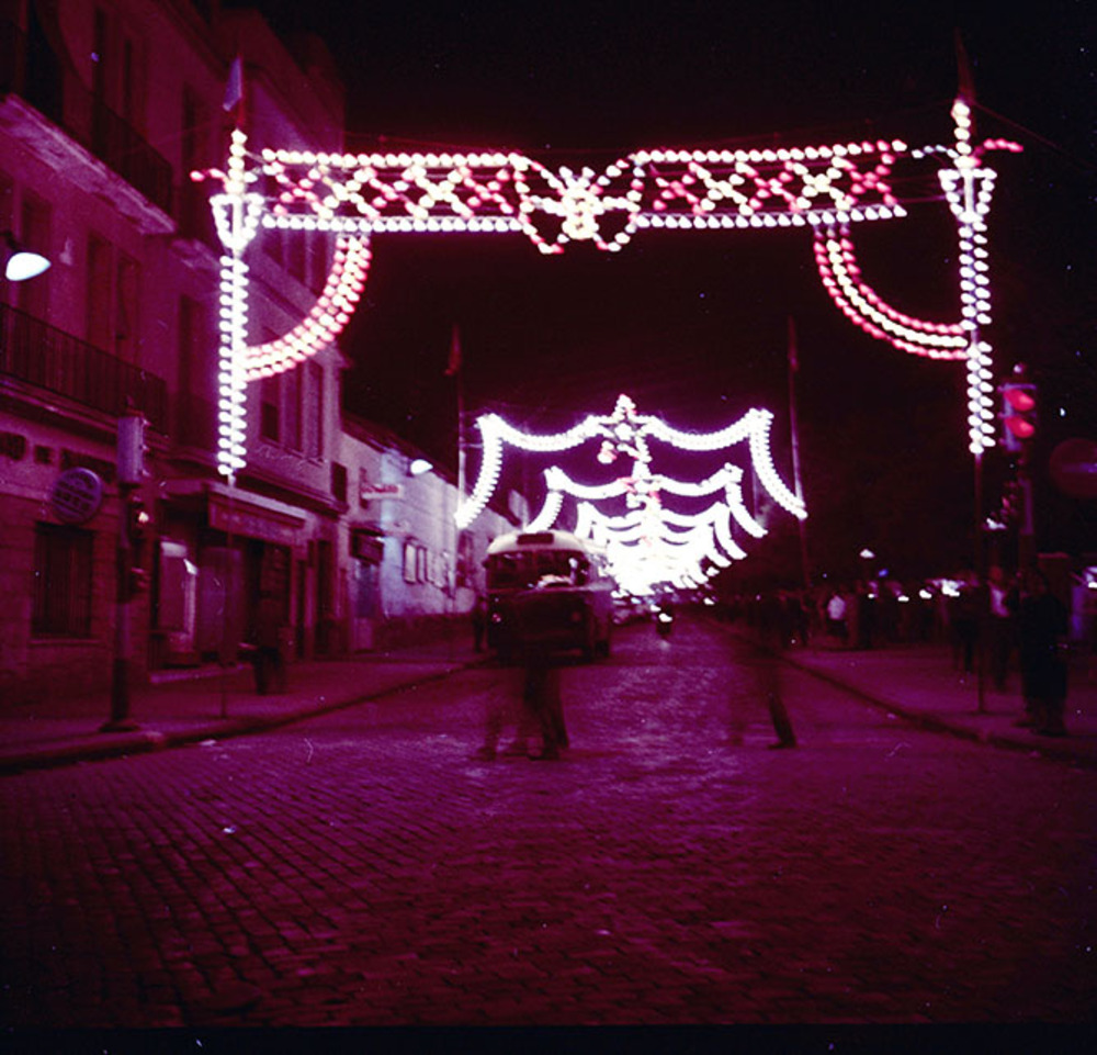
{"label": "dark barred ground-floor window below the round sign at left", "polygon": [[57,524],[35,526],[32,633],[90,636],[91,557],[90,531]]}

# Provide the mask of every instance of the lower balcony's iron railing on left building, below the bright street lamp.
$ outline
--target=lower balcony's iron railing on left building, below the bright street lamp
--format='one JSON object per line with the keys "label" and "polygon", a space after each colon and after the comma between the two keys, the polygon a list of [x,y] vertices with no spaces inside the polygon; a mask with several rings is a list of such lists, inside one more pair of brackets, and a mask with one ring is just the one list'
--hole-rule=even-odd
{"label": "lower balcony's iron railing on left building, below the bright street lamp", "polygon": [[137,409],[157,431],[168,428],[162,378],[0,304],[0,379],[9,378],[111,417]]}

